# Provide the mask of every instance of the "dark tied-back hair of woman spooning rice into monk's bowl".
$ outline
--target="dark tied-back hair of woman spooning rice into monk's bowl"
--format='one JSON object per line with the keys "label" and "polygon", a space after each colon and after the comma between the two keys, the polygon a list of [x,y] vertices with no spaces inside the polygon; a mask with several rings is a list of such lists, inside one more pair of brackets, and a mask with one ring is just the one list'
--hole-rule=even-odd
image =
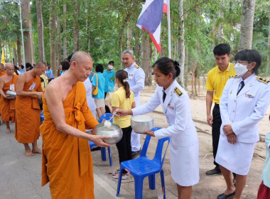
{"label": "dark tied-back hair of woman spooning rice into monk's bowl", "polygon": [[174,61],[170,58],[159,58],[156,62],[152,65],[152,68],[158,68],[164,75],[168,75],[170,72],[173,74],[173,80],[175,77],[180,75],[180,66],[177,61]]}

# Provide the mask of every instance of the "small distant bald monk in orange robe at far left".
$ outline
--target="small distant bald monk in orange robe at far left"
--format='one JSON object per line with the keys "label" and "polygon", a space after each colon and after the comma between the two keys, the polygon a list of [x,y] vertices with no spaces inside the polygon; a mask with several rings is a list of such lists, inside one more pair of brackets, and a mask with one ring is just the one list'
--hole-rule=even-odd
{"label": "small distant bald monk in orange robe at far left", "polygon": [[1,94],[1,119],[6,123],[6,133],[9,134],[11,129],[9,121],[15,122],[15,100],[16,98],[6,95],[8,90],[15,91],[18,75],[13,75],[14,65],[6,63],[6,75],[0,77],[0,94]]}

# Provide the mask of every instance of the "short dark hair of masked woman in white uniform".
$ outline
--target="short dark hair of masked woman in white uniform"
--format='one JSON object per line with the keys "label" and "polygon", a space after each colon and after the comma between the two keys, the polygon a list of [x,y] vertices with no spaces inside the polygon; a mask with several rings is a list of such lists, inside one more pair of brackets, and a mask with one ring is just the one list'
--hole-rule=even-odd
{"label": "short dark hair of masked woman in white uniform", "polygon": [[234,57],[234,60],[248,61],[249,63],[255,62],[253,72],[258,75],[258,69],[261,65],[261,54],[257,50],[240,50]]}

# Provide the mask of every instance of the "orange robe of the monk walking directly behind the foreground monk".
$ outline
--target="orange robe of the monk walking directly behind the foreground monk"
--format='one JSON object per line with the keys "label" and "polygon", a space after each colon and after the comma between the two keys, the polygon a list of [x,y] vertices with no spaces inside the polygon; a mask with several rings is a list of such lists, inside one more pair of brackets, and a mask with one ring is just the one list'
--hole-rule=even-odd
{"label": "orange robe of the monk walking directly behind the foreground monk", "polygon": [[[32,90],[31,85],[35,85]],[[41,78],[36,76],[26,82],[23,91],[42,92]],[[40,106],[37,97],[16,97],[15,138],[19,143],[33,143],[40,136]]]}

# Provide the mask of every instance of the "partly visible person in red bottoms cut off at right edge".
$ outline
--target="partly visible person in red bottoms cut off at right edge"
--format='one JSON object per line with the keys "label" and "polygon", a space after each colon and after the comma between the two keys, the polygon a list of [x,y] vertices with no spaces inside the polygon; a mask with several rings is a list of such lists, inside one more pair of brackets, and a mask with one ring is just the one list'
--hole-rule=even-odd
{"label": "partly visible person in red bottoms cut off at right edge", "polygon": [[264,170],[261,174],[262,182],[258,190],[258,199],[270,198],[270,133],[266,134],[265,136],[265,144],[266,158],[264,163]]}

